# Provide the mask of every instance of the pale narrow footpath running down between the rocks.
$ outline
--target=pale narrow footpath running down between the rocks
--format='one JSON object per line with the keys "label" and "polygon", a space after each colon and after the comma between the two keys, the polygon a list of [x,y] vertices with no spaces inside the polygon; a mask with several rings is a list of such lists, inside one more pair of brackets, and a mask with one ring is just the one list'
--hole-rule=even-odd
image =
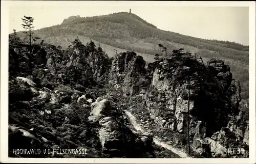
{"label": "pale narrow footpath running down between the rocks", "polygon": [[[131,123],[133,124],[134,128],[136,130],[140,130],[142,132],[144,132],[144,130],[142,129],[142,127],[137,123],[136,121],[136,118],[134,117],[134,115],[129,112],[129,111],[126,111],[124,110],[125,114],[129,117]],[[155,142],[156,145],[159,145],[159,146],[162,146],[172,152],[174,152],[175,154],[179,155],[181,158],[191,158],[191,156],[189,156],[188,154],[168,145],[168,144],[165,144],[164,142],[160,141],[159,139],[157,139],[157,137],[154,137],[153,138],[153,141]]]}

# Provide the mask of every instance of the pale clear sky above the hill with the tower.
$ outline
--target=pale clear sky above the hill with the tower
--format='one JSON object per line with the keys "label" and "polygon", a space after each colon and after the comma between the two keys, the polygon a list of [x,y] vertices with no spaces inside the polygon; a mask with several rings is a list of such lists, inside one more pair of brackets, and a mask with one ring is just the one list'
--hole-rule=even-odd
{"label": "pale clear sky above the hill with the tower", "polygon": [[[216,5],[186,5],[172,2],[122,1],[12,1],[9,5],[9,33],[22,31],[24,15],[34,18],[35,29],[62,23],[69,16],[80,17],[129,12],[158,29],[203,39],[228,40],[249,45],[249,8]],[[195,4],[195,2],[194,2]]]}

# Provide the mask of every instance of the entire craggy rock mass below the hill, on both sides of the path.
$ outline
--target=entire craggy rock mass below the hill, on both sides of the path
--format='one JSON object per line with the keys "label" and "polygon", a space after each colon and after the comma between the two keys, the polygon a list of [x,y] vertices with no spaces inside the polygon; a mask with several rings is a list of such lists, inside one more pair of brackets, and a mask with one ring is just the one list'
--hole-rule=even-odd
{"label": "entire craggy rock mass below the hill, on both sides of the path", "polygon": [[130,51],[109,59],[100,49],[61,52],[42,43],[32,54],[26,47],[10,49],[9,70],[11,140],[33,140],[42,148],[91,147],[97,157],[152,156],[152,135],[131,130],[119,99],[105,96],[115,89],[143,102],[143,120],[171,130],[176,144],[186,142],[189,121],[193,147],[206,157],[226,157],[232,144],[248,149],[240,84],[221,60],[204,65],[182,54],[146,64]]}

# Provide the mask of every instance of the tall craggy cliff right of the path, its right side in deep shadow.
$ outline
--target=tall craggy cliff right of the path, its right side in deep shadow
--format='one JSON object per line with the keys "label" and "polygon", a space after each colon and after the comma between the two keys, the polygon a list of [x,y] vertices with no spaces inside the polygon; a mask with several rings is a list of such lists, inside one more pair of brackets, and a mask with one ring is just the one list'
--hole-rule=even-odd
{"label": "tall craggy cliff right of the path, its right side in deep shadow", "polygon": [[[159,127],[184,135],[189,90],[192,141],[210,137],[227,126],[230,118],[238,115],[241,101],[239,81],[232,79],[228,65],[215,59],[204,65],[185,55],[145,66],[142,57],[135,53],[119,53],[112,63],[109,84],[124,95],[142,97],[151,119]],[[202,153],[203,148],[195,147]]]}

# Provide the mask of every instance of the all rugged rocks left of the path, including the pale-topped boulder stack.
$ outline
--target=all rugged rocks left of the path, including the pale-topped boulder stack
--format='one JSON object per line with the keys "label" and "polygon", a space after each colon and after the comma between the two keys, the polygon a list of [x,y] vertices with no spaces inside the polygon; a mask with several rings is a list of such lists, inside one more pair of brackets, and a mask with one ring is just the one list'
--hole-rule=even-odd
{"label": "all rugged rocks left of the path, including the pale-topped boulder stack", "polygon": [[[17,60],[18,49],[9,53],[9,66],[14,66],[9,74],[10,157],[35,157],[13,154],[17,148],[86,148],[86,157],[151,156],[147,153],[153,153],[153,140],[126,126],[122,110],[113,106],[111,97],[97,98],[106,93],[92,83],[108,78],[110,59],[96,52],[82,54],[67,67],[55,62],[61,55],[50,52],[56,50],[54,46],[41,44],[37,49],[24,62]],[[41,52],[47,62],[38,56]],[[15,68],[22,63],[27,67]],[[41,153],[36,157],[84,156]]]}

